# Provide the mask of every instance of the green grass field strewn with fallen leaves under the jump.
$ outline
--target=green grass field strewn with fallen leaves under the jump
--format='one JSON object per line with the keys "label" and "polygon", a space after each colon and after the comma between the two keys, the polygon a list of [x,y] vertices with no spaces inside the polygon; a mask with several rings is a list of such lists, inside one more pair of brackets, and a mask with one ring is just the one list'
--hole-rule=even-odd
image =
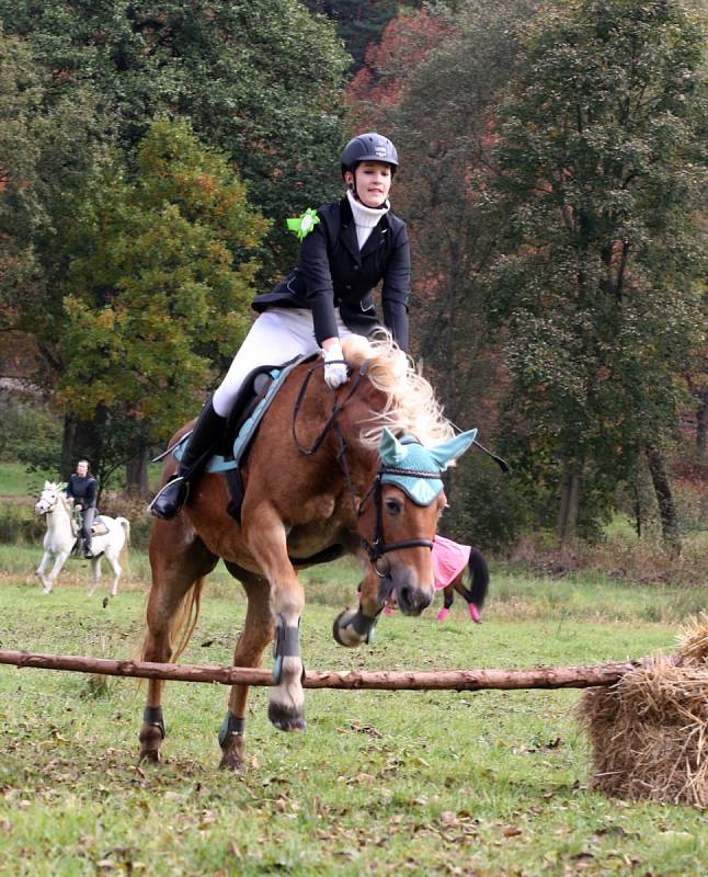
{"label": "green grass field strewn with fallen leaves under the jump", "polygon": [[[2,648],[135,657],[147,566],[135,555],[114,601],[88,601],[75,562],[50,596],[36,549],[0,546]],[[312,669],[532,667],[671,650],[705,591],[630,588],[492,569],[484,624],[458,601],[382,618],[376,641],[331,636],[353,567],[308,576],[302,620]],[[238,585],[214,577],[184,661],[230,663],[244,615]],[[589,790],[586,741],[559,692],[306,693],[308,729],[283,734],[252,690],[250,767],[217,770],[227,691],[171,683],[165,762],[138,766],[144,691],[129,680],[0,668],[2,875],[705,875],[708,817]]]}

